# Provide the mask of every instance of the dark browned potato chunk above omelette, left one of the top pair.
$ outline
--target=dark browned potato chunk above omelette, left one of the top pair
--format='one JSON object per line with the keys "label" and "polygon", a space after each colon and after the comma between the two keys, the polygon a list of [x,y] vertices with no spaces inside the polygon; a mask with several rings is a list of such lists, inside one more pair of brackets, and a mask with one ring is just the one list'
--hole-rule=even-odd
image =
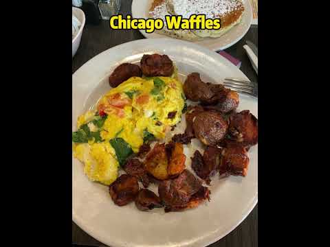
{"label": "dark browned potato chunk above omelette, left one of the top pair", "polygon": [[129,78],[133,76],[142,77],[142,71],[139,65],[125,62],[123,64],[120,64],[111,73],[109,77],[109,84],[114,88],[122,82],[129,80]]}

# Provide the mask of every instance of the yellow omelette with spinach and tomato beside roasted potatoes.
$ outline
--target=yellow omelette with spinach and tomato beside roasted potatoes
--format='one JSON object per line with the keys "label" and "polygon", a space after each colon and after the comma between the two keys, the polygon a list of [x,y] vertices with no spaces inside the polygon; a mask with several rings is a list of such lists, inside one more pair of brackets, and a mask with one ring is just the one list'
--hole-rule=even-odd
{"label": "yellow omelette with spinach and tomato beside roasted potatoes", "polygon": [[175,77],[131,77],[107,92],[77,120],[72,133],[74,157],[92,181],[110,185],[120,166],[148,141],[164,139],[186,108]]}

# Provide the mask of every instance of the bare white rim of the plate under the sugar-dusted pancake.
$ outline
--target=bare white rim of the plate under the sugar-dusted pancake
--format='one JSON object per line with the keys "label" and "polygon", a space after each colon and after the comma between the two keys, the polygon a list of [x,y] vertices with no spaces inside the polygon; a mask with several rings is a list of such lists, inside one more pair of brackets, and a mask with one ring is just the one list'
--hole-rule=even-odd
{"label": "bare white rim of the plate under the sugar-dusted pancake", "polygon": [[[252,23],[252,7],[248,0],[242,0],[245,11],[242,16],[241,23],[232,27],[227,33],[219,38],[204,38],[200,41],[194,41],[198,45],[212,49],[213,51],[219,51],[231,47],[237,43],[243,36],[248,32],[250,25]],[[133,18],[143,18],[148,19],[148,10],[151,6],[153,0],[133,0],[132,2],[132,16]],[[152,34],[147,34],[144,30],[140,30],[146,38],[170,38],[168,36],[157,34],[153,32]]]}

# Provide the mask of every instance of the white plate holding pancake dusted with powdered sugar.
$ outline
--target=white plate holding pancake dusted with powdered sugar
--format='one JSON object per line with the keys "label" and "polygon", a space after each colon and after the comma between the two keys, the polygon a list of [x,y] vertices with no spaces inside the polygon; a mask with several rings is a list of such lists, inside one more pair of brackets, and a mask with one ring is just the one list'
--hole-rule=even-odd
{"label": "white plate holding pancake dusted with powdered sugar", "polygon": [[[168,30],[165,16],[205,14],[207,19],[220,19],[219,30]],[[188,40],[214,51],[237,43],[248,32],[252,23],[252,7],[248,0],[133,0],[133,18],[162,19],[164,27],[147,33],[146,38],[177,38]]]}

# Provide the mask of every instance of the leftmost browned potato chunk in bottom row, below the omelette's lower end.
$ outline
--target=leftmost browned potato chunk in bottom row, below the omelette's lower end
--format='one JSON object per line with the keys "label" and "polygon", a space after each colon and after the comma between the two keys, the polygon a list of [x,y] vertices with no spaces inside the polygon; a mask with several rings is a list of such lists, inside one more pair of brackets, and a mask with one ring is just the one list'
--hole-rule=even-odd
{"label": "leftmost browned potato chunk in bottom row, below the omelette's lower end", "polygon": [[109,186],[109,193],[115,204],[124,206],[133,202],[139,189],[139,183],[137,183],[135,176],[122,174]]}

